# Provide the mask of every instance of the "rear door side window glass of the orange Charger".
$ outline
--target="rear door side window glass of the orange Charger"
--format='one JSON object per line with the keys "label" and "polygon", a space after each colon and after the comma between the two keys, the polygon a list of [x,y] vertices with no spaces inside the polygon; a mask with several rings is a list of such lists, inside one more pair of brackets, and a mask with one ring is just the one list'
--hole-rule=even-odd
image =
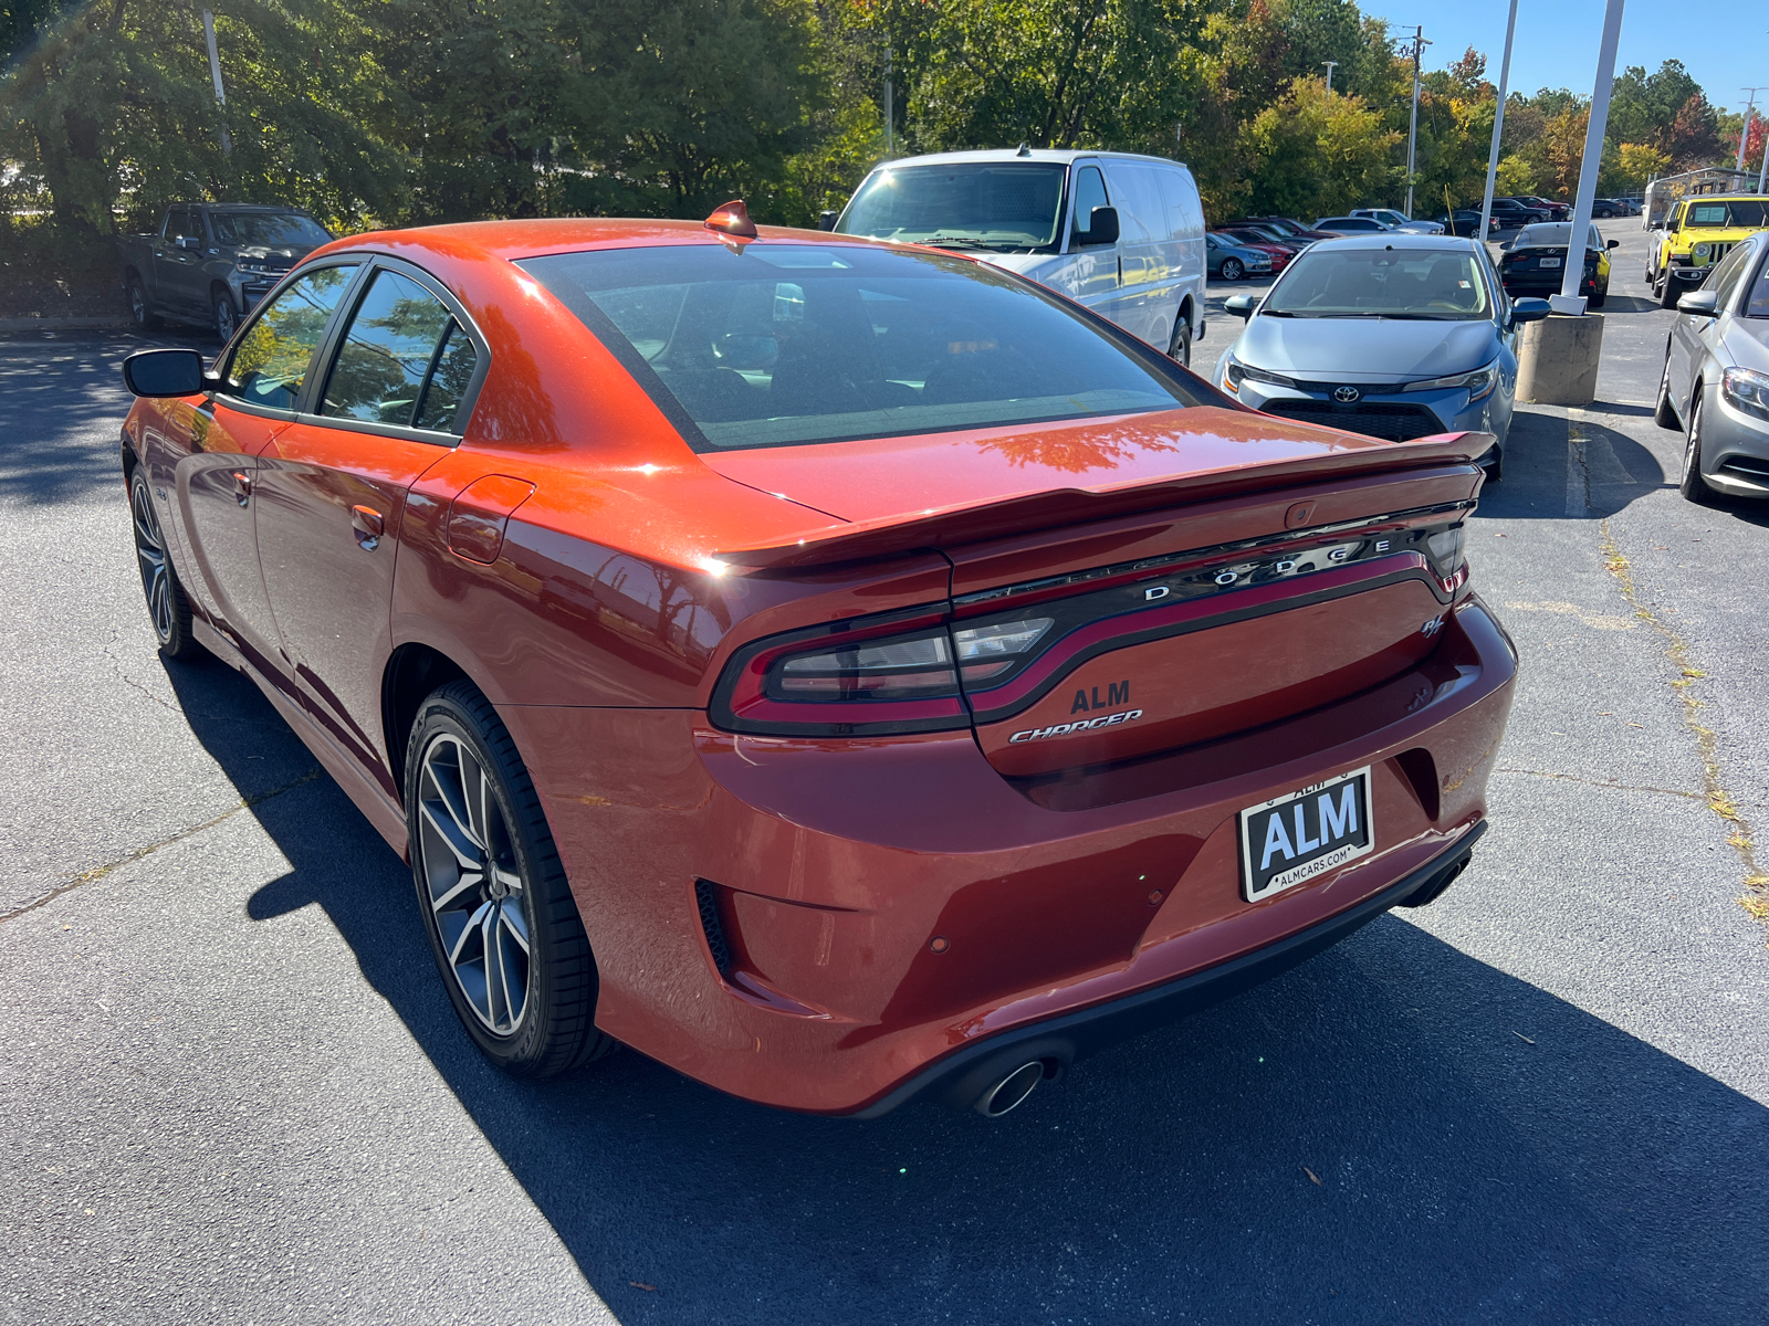
{"label": "rear door side window glass of the orange Charger", "polygon": [[[426,423],[416,426],[448,430],[476,359],[440,299],[382,269],[350,316],[320,414],[400,428],[423,417]],[[433,400],[425,400],[426,385]]]}

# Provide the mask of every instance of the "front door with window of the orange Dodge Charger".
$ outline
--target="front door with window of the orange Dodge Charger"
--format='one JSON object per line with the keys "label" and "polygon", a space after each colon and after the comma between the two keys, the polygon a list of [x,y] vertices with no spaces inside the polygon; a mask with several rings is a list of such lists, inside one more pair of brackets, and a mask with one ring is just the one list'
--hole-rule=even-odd
{"label": "front door with window of the orange Dodge Charger", "polygon": [[338,301],[356,265],[322,267],[265,306],[235,341],[221,387],[196,407],[182,454],[166,463],[184,545],[188,589],[260,672],[276,675],[276,622],[258,571],[258,456],[295,419]]}

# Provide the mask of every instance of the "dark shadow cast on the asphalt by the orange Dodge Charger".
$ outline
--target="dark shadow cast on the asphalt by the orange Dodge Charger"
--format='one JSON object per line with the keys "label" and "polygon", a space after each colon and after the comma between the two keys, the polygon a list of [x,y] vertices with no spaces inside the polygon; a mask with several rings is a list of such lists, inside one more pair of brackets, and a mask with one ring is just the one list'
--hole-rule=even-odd
{"label": "dark shadow cast on the asphalt by the orange Dodge Charger", "polygon": [[[255,688],[219,665],[168,675],[290,865],[248,914],[325,911],[623,1322],[1760,1307],[1769,1112],[1398,918],[996,1123],[782,1114],[630,1050],[515,1082],[455,1020],[403,863],[327,778],[301,776],[292,734],[241,739],[274,718]],[[287,790],[264,796],[260,762]]]}

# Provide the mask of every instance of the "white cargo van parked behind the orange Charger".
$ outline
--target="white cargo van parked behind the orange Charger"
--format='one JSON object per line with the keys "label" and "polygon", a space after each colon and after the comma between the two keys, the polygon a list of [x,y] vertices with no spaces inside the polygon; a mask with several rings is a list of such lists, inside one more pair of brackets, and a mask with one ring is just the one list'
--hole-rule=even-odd
{"label": "white cargo van parked behind the orange Charger", "polygon": [[1031,149],[886,161],[833,230],[975,255],[1182,364],[1205,334],[1205,212],[1176,161]]}

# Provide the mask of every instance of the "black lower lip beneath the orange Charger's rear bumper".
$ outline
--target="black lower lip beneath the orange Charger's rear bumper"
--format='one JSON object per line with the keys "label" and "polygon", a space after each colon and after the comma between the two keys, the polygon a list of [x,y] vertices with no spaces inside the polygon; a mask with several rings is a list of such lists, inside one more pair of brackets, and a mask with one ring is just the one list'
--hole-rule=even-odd
{"label": "black lower lip beneath the orange Charger's rear bumper", "polygon": [[1467,868],[1474,857],[1474,845],[1484,833],[1486,820],[1481,820],[1452,847],[1405,879],[1275,944],[1267,944],[1244,956],[1150,990],[1137,990],[1106,1004],[1053,1017],[969,1045],[909,1078],[888,1096],[872,1101],[867,1109],[856,1110],[853,1117],[876,1119],[913,1100],[938,1100],[953,1109],[966,1109],[991,1084],[999,1082],[1019,1064],[1042,1059],[1045,1075],[1054,1077],[1077,1059],[1086,1059],[1118,1041],[1176,1022],[1242,990],[1251,990],[1332,948],[1392,907],[1422,907],[1435,900]]}

